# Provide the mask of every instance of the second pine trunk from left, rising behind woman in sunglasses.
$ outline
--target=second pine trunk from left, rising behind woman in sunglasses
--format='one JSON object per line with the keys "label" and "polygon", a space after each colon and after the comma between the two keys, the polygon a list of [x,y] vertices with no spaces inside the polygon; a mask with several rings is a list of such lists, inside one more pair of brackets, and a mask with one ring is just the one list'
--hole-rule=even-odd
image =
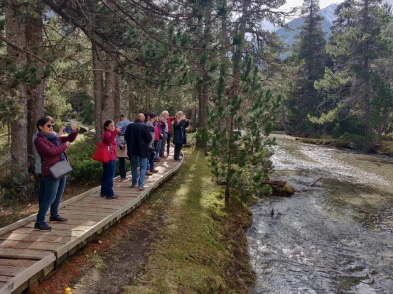
{"label": "second pine trunk from left, rising behind woman in sunglasses", "polygon": [[[26,26],[26,44],[27,48],[34,52],[35,55],[42,58],[42,49],[44,45],[43,37],[42,37],[42,9],[39,5],[38,1],[34,1],[31,5],[31,8],[36,13],[35,15],[31,15],[30,22]],[[27,121],[28,121],[28,130],[27,130],[27,142],[31,141],[33,134],[37,131],[36,122],[39,118],[44,115],[44,88],[45,88],[45,79],[43,77],[43,64],[39,60],[34,60],[34,65],[37,67],[37,79],[40,79],[41,82],[38,85],[28,85],[27,87],[27,96],[28,96],[28,104],[27,104]],[[32,144],[28,144],[28,155],[34,155],[34,148]]]}

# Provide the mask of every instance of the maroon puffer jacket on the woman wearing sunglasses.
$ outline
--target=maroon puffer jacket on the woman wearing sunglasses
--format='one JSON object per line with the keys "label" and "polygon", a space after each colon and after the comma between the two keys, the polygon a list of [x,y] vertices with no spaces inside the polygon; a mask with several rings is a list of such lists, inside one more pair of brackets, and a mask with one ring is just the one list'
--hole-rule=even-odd
{"label": "maroon puffer jacket on the woman wearing sunglasses", "polygon": [[75,133],[70,133],[68,136],[58,137],[62,144],[56,146],[55,143],[45,138],[43,134],[37,134],[37,138],[34,141],[34,146],[38,154],[41,156],[41,172],[43,176],[49,176],[50,174],[48,167],[61,160],[60,153],[65,152],[65,149],[67,149],[65,142],[74,142],[77,135],[78,131]]}

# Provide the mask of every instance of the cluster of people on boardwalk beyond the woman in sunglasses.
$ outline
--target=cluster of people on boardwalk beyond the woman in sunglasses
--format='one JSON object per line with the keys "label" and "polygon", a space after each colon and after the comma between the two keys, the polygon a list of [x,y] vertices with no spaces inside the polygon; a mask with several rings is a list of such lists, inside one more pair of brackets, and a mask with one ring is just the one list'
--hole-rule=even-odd
{"label": "cluster of people on boardwalk beyond the woman in sunglasses", "polygon": [[[173,122],[173,132],[172,132]],[[120,181],[126,181],[125,159],[131,162],[133,188],[144,190],[146,175],[156,173],[155,162],[169,155],[170,139],[173,133],[175,145],[174,160],[180,161],[180,150],[186,143],[186,131],[189,122],[182,111],[170,117],[168,111],[160,115],[155,112],[139,113],[134,122],[122,114],[119,122],[109,120],[104,123],[102,141],[111,146],[111,159],[103,163],[101,179],[101,196],[107,199],[118,198],[113,192],[113,178],[116,168],[116,157],[119,158]],[[166,155],[165,155],[166,149]],[[138,175],[138,166],[140,173]]]}

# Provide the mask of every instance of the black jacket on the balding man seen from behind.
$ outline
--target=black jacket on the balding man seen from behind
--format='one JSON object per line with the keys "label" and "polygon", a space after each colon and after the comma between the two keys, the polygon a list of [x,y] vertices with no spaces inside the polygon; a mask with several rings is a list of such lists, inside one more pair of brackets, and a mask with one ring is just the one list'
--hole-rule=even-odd
{"label": "black jacket on the balding man seen from behind", "polygon": [[142,158],[148,155],[148,144],[152,137],[149,128],[140,120],[136,120],[133,124],[127,126],[124,134],[124,139],[127,142],[127,154],[136,155]]}

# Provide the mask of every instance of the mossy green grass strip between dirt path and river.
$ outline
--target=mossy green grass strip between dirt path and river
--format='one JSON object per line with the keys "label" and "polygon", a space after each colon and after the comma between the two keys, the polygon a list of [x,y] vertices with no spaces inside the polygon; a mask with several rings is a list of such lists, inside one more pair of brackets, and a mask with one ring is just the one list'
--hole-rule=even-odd
{"label": "mossy green grass strip between dirt path and river", "polygon": [[123,294],[248,293],[253,273],[244,248],[250,211],[235,199],[225,206],[203,153],[186,154],[181,171],[164,188],[172,196],[159,228],[162,238]]}

